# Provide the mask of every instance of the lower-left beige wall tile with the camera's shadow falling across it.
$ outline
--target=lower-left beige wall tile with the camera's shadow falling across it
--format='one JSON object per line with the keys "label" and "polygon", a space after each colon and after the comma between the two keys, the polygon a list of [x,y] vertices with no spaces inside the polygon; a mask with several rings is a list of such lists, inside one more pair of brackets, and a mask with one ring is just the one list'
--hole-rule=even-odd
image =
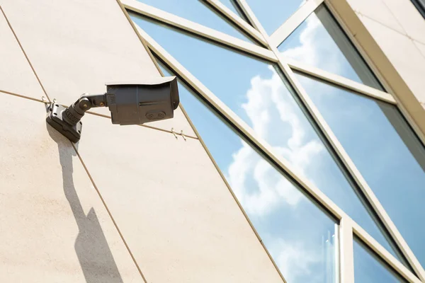
{"label": "lower-left beige wall tile with the camera's shadow falling across it", "polygon": [[143,282],[43,103],[0,93],[0,282]]}

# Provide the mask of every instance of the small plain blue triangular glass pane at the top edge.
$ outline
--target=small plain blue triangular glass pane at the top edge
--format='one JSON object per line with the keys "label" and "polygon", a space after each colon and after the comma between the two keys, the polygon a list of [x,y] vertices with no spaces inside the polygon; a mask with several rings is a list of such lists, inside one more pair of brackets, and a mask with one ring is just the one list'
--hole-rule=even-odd
{"label": "small plain blue triangular glass pane at the top edge", "polygon": [[246,0],[268,35],[297,11],[305,0]]}

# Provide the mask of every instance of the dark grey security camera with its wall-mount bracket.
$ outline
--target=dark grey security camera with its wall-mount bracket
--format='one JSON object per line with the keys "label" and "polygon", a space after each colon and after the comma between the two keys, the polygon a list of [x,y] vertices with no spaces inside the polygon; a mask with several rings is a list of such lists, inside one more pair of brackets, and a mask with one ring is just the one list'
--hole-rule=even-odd
{"label": "dark grey security camera with its wall-mount bracket", "polygon": [[149,82],[106,83],[106,93],[84,93],[64,108],[57,103],[47,106],[46,121],[70,141],[81,137],[81,118],[91,108],[108,107],[113,124],[140,125],[174,117],[179,106],[179,90],[175,76]]}

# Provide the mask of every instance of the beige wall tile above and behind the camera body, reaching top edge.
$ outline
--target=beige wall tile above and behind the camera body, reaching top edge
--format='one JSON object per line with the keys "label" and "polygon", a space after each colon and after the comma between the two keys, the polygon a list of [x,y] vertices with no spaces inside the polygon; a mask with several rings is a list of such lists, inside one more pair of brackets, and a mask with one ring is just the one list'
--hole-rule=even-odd
{"label": "beige wall tile above and behind the camera body, reaching top edge", "polygon": [[[47,94],[61,104],[70,105],[82,93],[104,93],[105,83],[111,81],[160,76],[116,0],[0,0],[0,4]],[[107,108],[94,111],[110,114]],[[194,136],[179,111],[175,119],[152,126],[183,129]]]}

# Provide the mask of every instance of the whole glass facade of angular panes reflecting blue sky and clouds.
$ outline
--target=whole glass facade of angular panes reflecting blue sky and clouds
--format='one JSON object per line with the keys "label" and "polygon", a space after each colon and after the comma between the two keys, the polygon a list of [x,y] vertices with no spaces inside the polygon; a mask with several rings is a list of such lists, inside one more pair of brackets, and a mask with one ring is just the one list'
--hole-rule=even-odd
{"label": "whole glass facade of angular panes reflecting blue sky and clouds", "polygon": [[[249,30],[237,28],[225,13],[205,1],[193,1],[190,6],[165,0],[143,2],[252,43]],[[253,11],[267,39],[305,1],[246,0],[246,7],[237,3],[222,0],[244,21],[248,20],[242,11]],[[411,271],[418,266],[411,267],[409,262],[414,260],[405,250],[411,249],[425,265],[421,241],[425,230],[418,225],[425,219],[421,205],[425,199],[421,185],[425,183],[425,150],[397,105],[371,98],[364,91],[359,94],[333,86],[319,75],[293,73],[329,125],[330,129],[324,129],[300,89],[276,62],[268,62],[261,54],[253,57],[237,46],[229,48],[208,35],[200,37],[128,12],[152,37],[148,45],[164,48],[164,53],[152,48],[164,75],[196,77],[196,81],[180,81],[181,103],[286,282],[339,282],[344,268],[339,261],[340,252],[344,253],[339,246],[341,217],[356,221],[379,243],[378,248],[387,250],[394,256],[392,260],[401,262],[415,278]],[[311,12],[279,44],[276,61],[282,55],[385,91],[327,7],[322,4]],[[209,92],[203,90],[214,97],[205,99]],[[224,103],[228,110],[206,100]],[[232,122],[231,117],[244,125]],[[240,127],[254,136],[244,136]],[[351,175],[352,168],[344,165],[350,163],[344,162],[346,157],[335,150],[326,131],[335,134],[384,210],[378,211],[375,201],[370,202],[373,198]],[[273,153],[266,154],[261,146]],[[316,190],[325,198],[311,193]],[[343,213],[336,215],[324,207],[337,207]],[[382,214],[390,216],[394,224],[385,222]],[[395,229],[401,238],[392,238]],[[354,238],[356,282],[406,281]]]}

